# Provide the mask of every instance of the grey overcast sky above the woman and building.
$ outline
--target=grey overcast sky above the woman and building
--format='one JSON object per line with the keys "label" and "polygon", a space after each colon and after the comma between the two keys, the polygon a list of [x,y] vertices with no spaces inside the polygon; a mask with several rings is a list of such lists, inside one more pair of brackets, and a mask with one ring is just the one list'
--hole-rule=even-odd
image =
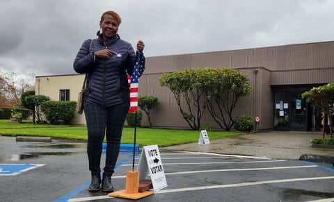
{"label": "grey overcast sky above the woman and building", "polygon": [[0,0],[0,72],[75,74],[106,10],[146,57],[334,40],[332,0]]}

